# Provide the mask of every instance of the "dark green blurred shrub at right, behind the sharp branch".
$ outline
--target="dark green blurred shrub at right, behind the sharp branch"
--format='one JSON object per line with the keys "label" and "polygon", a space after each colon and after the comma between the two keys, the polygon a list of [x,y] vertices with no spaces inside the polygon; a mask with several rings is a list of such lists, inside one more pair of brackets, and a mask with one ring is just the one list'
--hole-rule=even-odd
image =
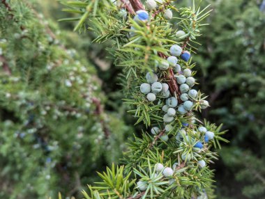
{"label": "dark green blurred shrub at right, behind the sharp branch", "polygon": [[[265,2],[264,2],[265,3]],[[229,129],[220,151],[220,198],[265,196],[265,14],[262,1],[211,1],[210,26],[196,56],[203,90],[211,92],[207,118]],[[261,9],[261,10],[260,10]],[[206,47],[206,49],[204,49]],[[219,173],[220,172],[220,173]]]}

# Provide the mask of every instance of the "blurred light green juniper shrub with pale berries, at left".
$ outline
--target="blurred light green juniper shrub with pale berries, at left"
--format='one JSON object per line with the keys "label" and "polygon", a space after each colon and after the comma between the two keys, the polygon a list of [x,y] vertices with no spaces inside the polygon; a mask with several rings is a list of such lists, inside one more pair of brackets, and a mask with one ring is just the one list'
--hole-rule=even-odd
{"label": "blurred light green juniper shrub with pale berries, at left", "polygon": [[[118,162],[130,130],[104,111],[96,70],[29,1],[0,3],[0,197],[75,196]],[[9,3],[10,2],[10,3]],[[74,49],[77,47],[77,49]],[[78,53],[77,53],[78,51]]]}

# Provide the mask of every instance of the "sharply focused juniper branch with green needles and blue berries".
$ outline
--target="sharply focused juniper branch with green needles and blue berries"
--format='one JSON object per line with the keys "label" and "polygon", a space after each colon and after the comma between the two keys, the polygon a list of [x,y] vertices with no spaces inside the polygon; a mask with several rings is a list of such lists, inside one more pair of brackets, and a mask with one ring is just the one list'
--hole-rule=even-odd
{"label": "sharply focused juniper branch with green needles and blue berries", "polygon": [[[146,127],[142,138],[130,141],[124,166],[99,173],[102,182],[83,191],[85,198],[213,198],[208,164],[217,158],[212,149],[226,141],[225,132],[201,122],[197,113],[209,104],[200,91],[190,90],[196,74],[190,54],[210,11],[195,2],[190,8],[159,2],[149,13],[138,0],[62,2],[64,10],[79,15],[61,21],[77,20],[76,31],[88,26],[98,35],[95,42],[112,42],[109,52],[123,67],[125,102],[136,124]],[[177,30],[168,21],[170,9],[178,14]]]}

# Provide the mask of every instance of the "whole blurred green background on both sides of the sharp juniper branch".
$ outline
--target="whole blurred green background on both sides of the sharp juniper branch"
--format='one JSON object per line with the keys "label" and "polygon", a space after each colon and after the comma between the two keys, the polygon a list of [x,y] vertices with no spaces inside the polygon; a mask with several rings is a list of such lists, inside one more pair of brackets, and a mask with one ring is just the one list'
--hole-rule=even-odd
{"label": "whole blurred green background on both sides of the sharp juniper branch", "polygon": [[[0,72],[0,196],[78,198],[140,129],[122,105],[121,68],[110,44],[56,22],[68,17],[57,1],[10,3],[13,17],[0,3],[0,63],[12,71]],[[193,61],[211,104],[204,118],[229,129],[212,166],[217,198],[265,198],[265,1],[209,3]]]}

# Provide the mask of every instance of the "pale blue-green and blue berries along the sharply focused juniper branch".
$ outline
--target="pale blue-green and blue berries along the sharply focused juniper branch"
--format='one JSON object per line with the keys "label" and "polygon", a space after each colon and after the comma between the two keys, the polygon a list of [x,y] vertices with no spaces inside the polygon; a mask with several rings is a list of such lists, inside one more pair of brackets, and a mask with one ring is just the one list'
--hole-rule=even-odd
{"label": "pale blue-green and blue berries along the sharply focused juniper branch", "polygon": [[[146,0],[146,8],[148,10],[154,10],[158,8],[161,3],[162,0]],[[165,19],[172,19],[172,11],[170,9],[165,10],[163,15]],[[137,15],[134,19],[135,22],[139,24],[147,22],[149,19],[149,13],[145,10],[139,10],[137,11]],[[185,38],[186,35],[187,34],[181,30],[176,32],[176,37],[179,39]],[[172,45],[172,47],[170,47],[170,54],[171,56],[169,56],[167,60],[160,61],[157,63],[156,67],[158,67],[158,70],[160,71],[168,70],[169,67],[174,68],[174,71],[176,72],[174,77],[176,78],[176,82],[179,84],[179,90],[181,92],[181,95],[179,96],[180,100],[170,94],[169,85],[159,81],[158,75],[153,72],[148,72],[146,74],[147,83],[142,83],[140,86],[141,92],[146,94],[146,98],[150,102],[154,102],[157,97],[165,99],[165,105],[162,106],[162,111],[165,112],[165,115],[163,116],[165,127],[163,130],[159,127],[151,128],[151,134],[153,135],[158,136],[158,134],[162,132],[162,134],[159,135],[160,140],[165,142],[169,140],[167,133],[173,129],[171,122],[174,121],[176,114],[179,113],[180,115],[185,115],[189,111],[192,111],[198,95],[197,90],[192,89],[192,87],[195,86],[195,78],[192,77],[192,70],[188,67],[185,67],[185,69],[182,70],[181,65],[179,65],[179,59],[183,62],[188,62],[190,60],[190,52],[183,51],[183,48],[179,45]],[[181,104],[179,103],[180,101]],[[206,109],[209,106],[209,102],[206,100],[201,100],[199,104],[201,109]],[[199,134],[199,137],[201,137],[199,138],[199,141],[198,136],[188,136],[185,125],[183,125],[183,128],[181,128],[176,134],[176,142],[180,146],[191,145],[195,151],[202,152],[204,144],[214,138],[214,133],[208,131],[206,127],[197,127],[196,129],[193,129],[192,132],[194,135]],[[183,161],[190,161],[192,159],[192,155],[188,152],[183,152],[181,154],[181,159]],[[204,161],[204,159],[199,159],[197,160],[197,165],[199,168],[204,168],[206,166],[206,161]],[[163,175],[164,177],[170,178],[174,175],[174,170],[177,166],[179,166],[178,163],[173,164],[172,168],[164,167],[162,164],[157,163],[155,165],[156,176]],[[172,184],[173,182],[173,178],[169,179],[169,184]],[[140,191],[146,191],[146,189],[148,189],[148,182],[139,180],[137,182],[137,188]]]}

